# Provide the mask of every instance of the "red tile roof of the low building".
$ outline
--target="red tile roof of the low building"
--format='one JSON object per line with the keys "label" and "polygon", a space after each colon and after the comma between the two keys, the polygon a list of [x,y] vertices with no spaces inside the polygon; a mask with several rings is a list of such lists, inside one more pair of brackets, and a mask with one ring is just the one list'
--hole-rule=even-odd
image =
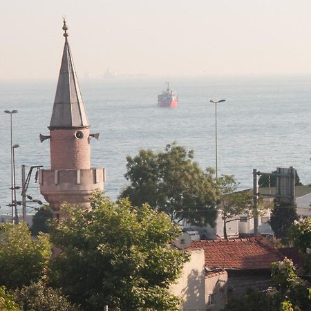
{"label": "red tile roof of the low building", "polygon": [[285,257],[265,238],[193,241],[189,249],[204,249],[205,265],[209,269],[270,269],[271,263],[282,261]]}

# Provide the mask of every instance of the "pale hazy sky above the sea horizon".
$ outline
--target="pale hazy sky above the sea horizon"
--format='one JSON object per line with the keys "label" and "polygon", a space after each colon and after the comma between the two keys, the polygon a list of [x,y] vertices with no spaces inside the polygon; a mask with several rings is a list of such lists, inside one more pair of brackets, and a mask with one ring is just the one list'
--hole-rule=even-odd
{"label": "pale hazy sky above the sea horizon", "polygon": [[0,0],[0,79],[311,73],[310,0]]}

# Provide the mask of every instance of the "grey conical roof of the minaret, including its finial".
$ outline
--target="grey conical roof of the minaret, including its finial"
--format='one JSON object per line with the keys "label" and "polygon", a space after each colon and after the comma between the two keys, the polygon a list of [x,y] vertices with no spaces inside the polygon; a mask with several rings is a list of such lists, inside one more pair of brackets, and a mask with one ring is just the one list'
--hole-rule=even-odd
{"label": "grey conical roof of the minaret, including its finial", "polygon": [[59,71],[57,90],[50,119],[50,129],[84,128],[90,126],[82,100],[81,91],[73,64],[73,55],[68,43],[66,21],[64,20],[65,45]]}

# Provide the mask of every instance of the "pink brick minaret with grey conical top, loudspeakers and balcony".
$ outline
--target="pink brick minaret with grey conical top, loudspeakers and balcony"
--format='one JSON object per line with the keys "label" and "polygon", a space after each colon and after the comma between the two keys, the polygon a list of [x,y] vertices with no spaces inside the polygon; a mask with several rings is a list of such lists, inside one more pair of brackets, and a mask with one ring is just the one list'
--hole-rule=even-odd
{"label": "pink brick minaret with grey conical top, loudspeakers and balcony", "polygon": [[104,169],[91,168],[91,137],[88,117],[77,82],[68,44],[68,27],[64,19],[64,51],[57,90],[50,119],[50,135],[40,134],[43,142],[50,139],[50,169],[39,171],[40,191],[50,203],[55,218],[63,202],[89,207],[88,198],[104,188]]}

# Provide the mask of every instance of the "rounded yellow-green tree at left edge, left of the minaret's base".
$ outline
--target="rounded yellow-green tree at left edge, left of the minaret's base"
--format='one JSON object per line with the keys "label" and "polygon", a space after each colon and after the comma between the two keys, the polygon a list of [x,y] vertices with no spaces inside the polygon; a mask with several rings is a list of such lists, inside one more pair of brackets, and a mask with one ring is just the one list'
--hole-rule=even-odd
{"label": "rounded yellow-green tree at left edge, left of the minaret's base", "polygon": [[44,275],[51,256],[46,234],[31,238],[25,223],[0,225],[0,284],[21,288]]}

